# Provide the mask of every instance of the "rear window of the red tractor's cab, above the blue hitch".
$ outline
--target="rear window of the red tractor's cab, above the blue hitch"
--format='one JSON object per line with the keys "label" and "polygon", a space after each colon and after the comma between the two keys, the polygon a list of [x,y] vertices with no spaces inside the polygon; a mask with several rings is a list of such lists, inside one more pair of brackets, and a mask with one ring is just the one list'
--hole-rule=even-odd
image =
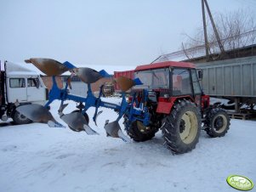
{"label": "rear window of the red tractor's cab, above the blue hitch", "polygon": [[138,71],[134,74],[135,78],[139,77],[143,85],[137,85],[134,88],[169,88],[169,70],[168,68]]}

